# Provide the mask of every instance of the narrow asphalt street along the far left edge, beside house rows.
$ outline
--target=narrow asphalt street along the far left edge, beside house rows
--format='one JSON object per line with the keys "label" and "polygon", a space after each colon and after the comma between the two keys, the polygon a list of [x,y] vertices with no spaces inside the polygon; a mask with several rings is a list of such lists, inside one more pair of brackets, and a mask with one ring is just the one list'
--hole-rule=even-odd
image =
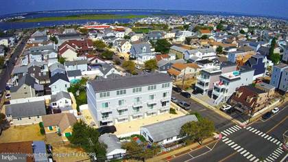
{"label": "narrow asphalt street along the far left edge, beside house rows", "polygon": [[0,74],[0,90],[3,91],[5,89],[6,83],[10,79],[14,64],[16,63],[15,58],[19,58],[23,48],[25,47],[25,43],[27,41],[28,37],[24,37],[20,44],[16,47],[14,50],[14,53],[11,55],[7,67],[3,69],[3,71]]}

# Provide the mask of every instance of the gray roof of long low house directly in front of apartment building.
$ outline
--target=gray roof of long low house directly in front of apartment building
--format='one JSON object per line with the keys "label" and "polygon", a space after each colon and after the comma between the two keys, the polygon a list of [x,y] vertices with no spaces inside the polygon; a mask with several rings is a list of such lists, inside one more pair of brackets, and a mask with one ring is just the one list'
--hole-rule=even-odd
{"label": "gray roof of long low house directly in front of apartment building", "polygon": [[154,142],[158,142],[179,135],[181,127],[187,122],[192,121],[198,121],[195,115],[185,115],[163,122],[158,122],[156,124],[142,126],[142,128],[146,128],[152,136]]}

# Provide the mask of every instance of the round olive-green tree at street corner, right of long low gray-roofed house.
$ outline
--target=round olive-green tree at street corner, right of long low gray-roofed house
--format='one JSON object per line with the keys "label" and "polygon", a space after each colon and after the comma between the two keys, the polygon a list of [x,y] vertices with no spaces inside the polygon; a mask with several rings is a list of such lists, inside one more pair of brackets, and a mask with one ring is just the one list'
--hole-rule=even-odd
{"label": "round olive-green tree at street corner, right of long low gray-roofed house", "polygon": [[197,141],[202,144],[203,140],[211,137],[215,131],[215,126],[212,121],[206,118],[200,119],[198,122],[187,122],[181,128],[180,133],[187,135],[192,141]]}

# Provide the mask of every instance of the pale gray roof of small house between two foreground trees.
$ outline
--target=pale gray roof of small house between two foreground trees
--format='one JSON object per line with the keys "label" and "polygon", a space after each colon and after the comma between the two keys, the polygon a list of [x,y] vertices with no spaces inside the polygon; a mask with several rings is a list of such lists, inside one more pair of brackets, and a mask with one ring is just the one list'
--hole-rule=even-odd
{"label": "pale gray roof of small house between two foreground trees", "polygon": [[99,142],[106,144],[107,153],[110,153],[116,149],[121,149],[121,143],[116,135],[105,133],[99,137]]}

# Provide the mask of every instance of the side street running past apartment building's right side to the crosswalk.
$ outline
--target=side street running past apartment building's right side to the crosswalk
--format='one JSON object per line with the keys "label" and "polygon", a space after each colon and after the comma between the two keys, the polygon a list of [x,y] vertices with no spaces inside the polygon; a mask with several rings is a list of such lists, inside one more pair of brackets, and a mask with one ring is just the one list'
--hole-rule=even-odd
{"label": "side street running past apartment building's right side to the crosswalk", "polygon": [[202,115],[202,117],[206,117],[208,119],[211,119],[214,122],[215,127],[219,131],[224,130],[224,129],[233,125],[233,123],[230,122],[228,119],[221,117],[221,115],[218,115],[213,110],[206,108],[202,104],[195,102],[191,98],[183,97],[182,95],[180,95],[180,93],[177,93],[176,91],[172,92],[172,96],[176,97],[178,101],[185,101],[185,102],[189,103],[190,107],[191,107],[191,112],[200,113],[200,115]]}

